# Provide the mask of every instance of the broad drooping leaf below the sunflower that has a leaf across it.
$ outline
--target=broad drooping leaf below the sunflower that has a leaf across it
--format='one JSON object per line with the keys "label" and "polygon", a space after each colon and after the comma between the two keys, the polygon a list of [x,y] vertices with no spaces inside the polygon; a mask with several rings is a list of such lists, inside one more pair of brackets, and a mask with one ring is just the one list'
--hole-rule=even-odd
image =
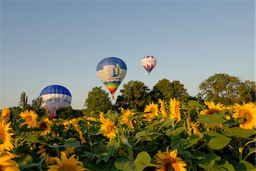
{"label": "broad drooping leaf below the sunflower that has a leaf across it", "polygon": [[218,134],[217,132],[207,131],[203,134],[207,140],[208,147],[211,149],[222,149],[226,147],[226,145],[228,145],[229,141],[231,140],[229,137]]}

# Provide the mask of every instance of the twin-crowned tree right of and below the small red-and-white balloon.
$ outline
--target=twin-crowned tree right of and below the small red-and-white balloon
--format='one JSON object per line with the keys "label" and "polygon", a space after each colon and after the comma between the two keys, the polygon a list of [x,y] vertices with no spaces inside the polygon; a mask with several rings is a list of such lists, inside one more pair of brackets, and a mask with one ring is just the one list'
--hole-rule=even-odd
{"label": "twin-crowned tree right of and below the small red-and-white balloon", "polygon": [[151,95],[155,102],[158,101],[159,98],[165,101],[176,98],[181,102],[187,102],[189,99],[189,94],[183,84],[177,80],[170,82],[166,78],[163,78],[155,84]]}

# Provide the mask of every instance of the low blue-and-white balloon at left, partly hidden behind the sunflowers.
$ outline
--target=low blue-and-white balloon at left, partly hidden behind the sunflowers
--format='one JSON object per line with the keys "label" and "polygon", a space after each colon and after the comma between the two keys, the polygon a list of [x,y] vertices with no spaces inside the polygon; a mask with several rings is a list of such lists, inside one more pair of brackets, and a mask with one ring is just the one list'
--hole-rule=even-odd
{"label": "low blue-and-white balloon at left, partly hidden behind the sunflowers", "polygon": [[43,98],[42,106],[45,106],[51,119],[56,116],[56,110],[61,107],[69,107],[71,105],[71,93],[68,89],[60,85],[50,85],[45,87],[40,97]]}

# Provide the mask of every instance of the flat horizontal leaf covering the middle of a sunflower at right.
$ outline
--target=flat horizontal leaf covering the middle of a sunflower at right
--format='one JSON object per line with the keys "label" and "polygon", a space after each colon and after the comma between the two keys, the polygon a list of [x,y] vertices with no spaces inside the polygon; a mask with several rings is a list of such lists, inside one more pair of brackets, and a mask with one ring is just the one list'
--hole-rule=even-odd
{"label": "flat horizontal leaf covering the middle of a sunflower at right", "polygon": [[197,122],[207,124],[225,123],[226,121],[226,119],[222,118],[221,115],[218,115],[216,113],[214,113],[213,115],[200,115],[199,119],[197,119]]}

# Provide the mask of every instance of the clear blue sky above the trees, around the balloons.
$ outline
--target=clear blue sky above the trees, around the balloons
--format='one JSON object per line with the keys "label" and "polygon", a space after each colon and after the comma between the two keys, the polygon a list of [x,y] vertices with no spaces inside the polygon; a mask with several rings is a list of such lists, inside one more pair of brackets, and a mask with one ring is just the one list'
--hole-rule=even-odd
{"label": "clear blue sky above the trees, around the balloons", "polygon": [[[255,81],[255,1],[1,1],[0,109],[28,103],[49,85],[85,109],[106,57],[125,61],[129,81],[149,89],[166,78],[189,95],[215,73]],[[141,65],[154,56],[148,75]],[[109,93],[111,99],[112,95]],[[114,103],[114,101],[113,101]]]}

